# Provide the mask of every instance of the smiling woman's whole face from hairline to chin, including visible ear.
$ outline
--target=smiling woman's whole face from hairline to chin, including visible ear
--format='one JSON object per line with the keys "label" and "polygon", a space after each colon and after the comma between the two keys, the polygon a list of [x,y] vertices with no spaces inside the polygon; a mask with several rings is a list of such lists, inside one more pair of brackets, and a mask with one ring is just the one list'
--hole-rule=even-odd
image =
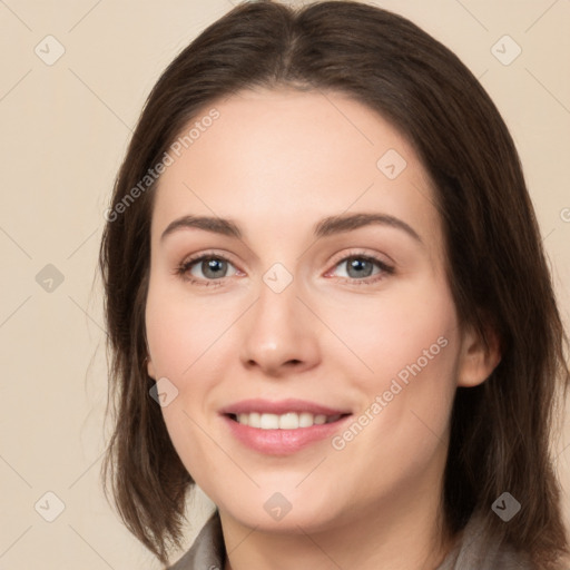
{"label": "smiling woman's whole face from hairline to chin, including visible ear", "polygon": [[248,527],[433,508],[455,389],[490,370],[417,156],[338,94],[215,109],[170,147],[151,224],[148,372],[181,461]]}

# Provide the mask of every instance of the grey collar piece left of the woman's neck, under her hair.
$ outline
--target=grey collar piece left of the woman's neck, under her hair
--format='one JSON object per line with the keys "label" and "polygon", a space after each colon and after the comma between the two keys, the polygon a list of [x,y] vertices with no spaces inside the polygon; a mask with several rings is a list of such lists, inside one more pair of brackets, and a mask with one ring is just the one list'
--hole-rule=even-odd
{"label": "grey collar piece left of the woman's neck, under her hair", "polygon": [[191,548],[167,570],[222,570],[225,557],[222,523],[216,511],[204,524]]}

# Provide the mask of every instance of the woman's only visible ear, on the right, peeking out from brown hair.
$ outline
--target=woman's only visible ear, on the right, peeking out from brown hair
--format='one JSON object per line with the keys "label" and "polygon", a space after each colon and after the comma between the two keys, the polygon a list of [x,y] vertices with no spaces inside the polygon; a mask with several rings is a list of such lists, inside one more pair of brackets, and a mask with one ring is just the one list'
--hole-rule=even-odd
{"label": "woman's only visible ear, on the right, peeking out from brown hair", "polygon": [[501,362],[499,335],[491,327],[485,332],[487,344],[473,326],[464,327],[458,366],[458,386],[473,387],[482,384]]}

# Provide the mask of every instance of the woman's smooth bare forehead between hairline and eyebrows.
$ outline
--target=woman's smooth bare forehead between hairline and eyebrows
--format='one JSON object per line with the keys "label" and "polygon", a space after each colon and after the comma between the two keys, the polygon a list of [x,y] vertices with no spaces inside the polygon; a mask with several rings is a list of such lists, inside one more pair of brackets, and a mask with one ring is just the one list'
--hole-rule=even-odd
{"label": "woman's smooth bare forehead between hairline and eyebrows", "polygon": [[239,91],[204,107],[168,153],[157,226],[186,213],[247,212],[275,228],[277,218],[301,222],[351,207],[434,222],[430,180],[411,145],[344,94]]}

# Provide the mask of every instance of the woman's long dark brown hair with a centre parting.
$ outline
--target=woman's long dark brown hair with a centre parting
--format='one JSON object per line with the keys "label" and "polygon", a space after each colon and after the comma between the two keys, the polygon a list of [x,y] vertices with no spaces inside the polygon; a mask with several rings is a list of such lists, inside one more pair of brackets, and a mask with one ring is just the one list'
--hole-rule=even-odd
{"label": "woman's long dark brown hair with a centre parting", "polygon": [[[502,346],[483,384],[456,391],[445,521],[455,533],[480,512],[487,537],[553,568],[569,551],[550,450],[556,404],[569,385],[568,343],[517,150],[489,96],[449,49],[400,16],[352,1],[238,6],[169,65],[147,99],[116,180],[99,261],[116,406],[104,483],[107,491],[110,474],[125,523],[167,563],[194,484],[146,372],[156,184],[125,199],[202,109],[255,86],[347,94],[415,148],[438,190],[460,320],[483,340],[491,325]],[[491,511],[504,491],[522,504],[508,523]]]}

